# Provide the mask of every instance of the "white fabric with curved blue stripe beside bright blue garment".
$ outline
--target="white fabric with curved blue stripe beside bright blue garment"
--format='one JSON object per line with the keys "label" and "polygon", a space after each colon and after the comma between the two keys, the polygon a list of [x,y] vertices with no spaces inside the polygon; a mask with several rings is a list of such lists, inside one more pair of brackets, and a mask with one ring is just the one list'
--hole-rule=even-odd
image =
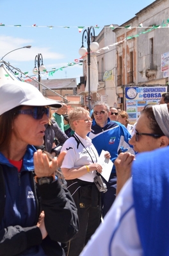
{"label": "white fabric with curved blue stripe beside bright blue garment", "polygon": [[80,256],[143,256],[129,179]]}

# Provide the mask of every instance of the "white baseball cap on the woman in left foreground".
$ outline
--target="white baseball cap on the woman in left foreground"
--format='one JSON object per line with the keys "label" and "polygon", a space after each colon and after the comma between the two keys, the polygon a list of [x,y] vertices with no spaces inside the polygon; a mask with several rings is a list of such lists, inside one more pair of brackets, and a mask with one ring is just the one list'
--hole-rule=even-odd
{"label": "white baseball cap on the woman in left foreground", "polygon": [[62,107],[59,101],[45,98],[31,84],[12,81],[12,83],[0,85],[0,115],[20,105]]}

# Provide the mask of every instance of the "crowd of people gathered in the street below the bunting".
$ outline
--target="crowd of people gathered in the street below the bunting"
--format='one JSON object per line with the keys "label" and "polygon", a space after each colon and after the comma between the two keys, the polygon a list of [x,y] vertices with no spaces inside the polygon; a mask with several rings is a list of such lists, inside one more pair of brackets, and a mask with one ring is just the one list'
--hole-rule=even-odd
{"label": "crowd of people gathered in the street below the bunting", "polygon": [[0,256],[168,256],[168,93],[135,124],[20,81],[0,104]]}

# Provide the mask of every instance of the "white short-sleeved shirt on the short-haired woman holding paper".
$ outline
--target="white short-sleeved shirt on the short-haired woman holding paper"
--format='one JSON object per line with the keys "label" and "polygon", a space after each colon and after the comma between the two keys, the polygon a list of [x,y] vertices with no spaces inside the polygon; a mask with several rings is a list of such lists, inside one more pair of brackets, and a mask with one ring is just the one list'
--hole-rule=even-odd
{"label": "white short-sleeved shirt on the short-haired woman holding paper", "polygon": [[[61,168],[71,169],[73,167],[81,167],[88,166],[89,164],[93,164],[93,162],[97,162],[99,155],[97,150],[92,144],[92,140],[89,137],[86,139],[81,138],[77,133],[74,133],[75,136],[79,139],[79,144],[77,143],[74,137],[70,137],[65,141],[61,151],[67,151]],[[77,148],[78,146],[78,148]],[[93,159],[93,162],[92,162]],[[84,180],[85,182],[93,182],[93,178],[95,177],[96,172],[90,171],[86,172],[85,175],[79,177],[79,180]]]}

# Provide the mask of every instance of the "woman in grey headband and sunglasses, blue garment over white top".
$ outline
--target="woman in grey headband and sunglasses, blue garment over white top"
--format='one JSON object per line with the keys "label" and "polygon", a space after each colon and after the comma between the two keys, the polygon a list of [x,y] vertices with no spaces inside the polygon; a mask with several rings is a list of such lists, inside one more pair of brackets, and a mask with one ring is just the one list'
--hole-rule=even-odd
{"label": "woman in grey headband and sunglasses, blue garment over white top", "polygon": [[129,141],[138,155],[120,153],[115,160],[117,200],[81,256],[168,255],[168,109],[143,108]]}

